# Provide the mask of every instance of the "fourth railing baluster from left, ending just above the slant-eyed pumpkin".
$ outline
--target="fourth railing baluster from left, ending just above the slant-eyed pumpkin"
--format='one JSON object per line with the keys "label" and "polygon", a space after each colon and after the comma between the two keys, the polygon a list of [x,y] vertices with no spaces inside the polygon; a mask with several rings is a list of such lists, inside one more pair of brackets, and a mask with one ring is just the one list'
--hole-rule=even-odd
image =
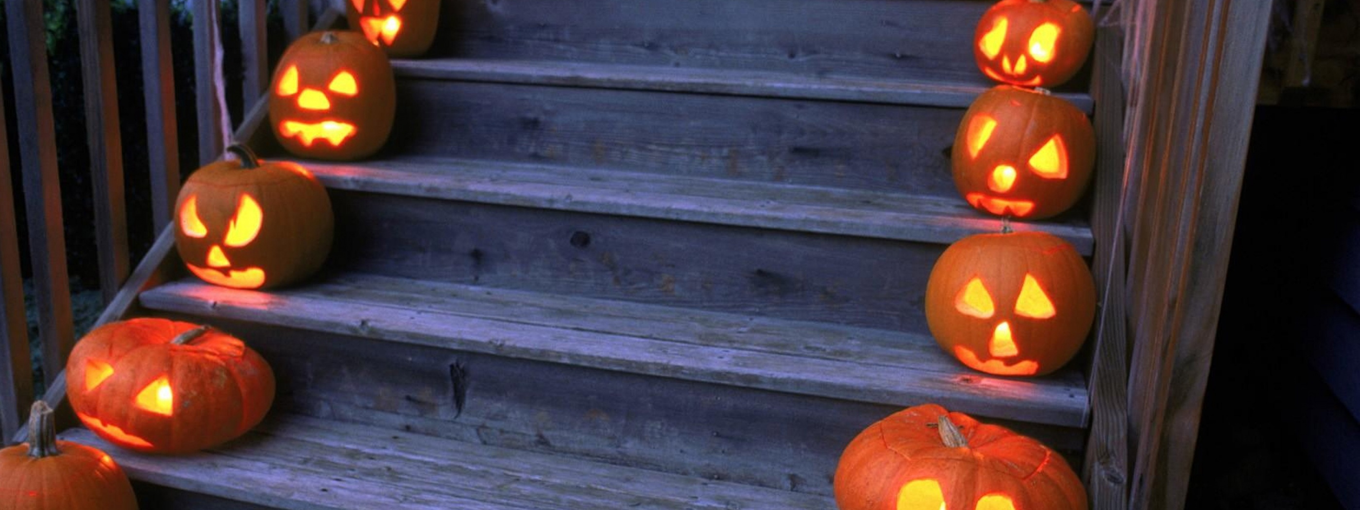
{"label": "fourth railing baluster from left, ending just above the slant-eyed pumpkin", "polygon": [[170,57],[170,0],[139,0],[141,90],[147,107],[147,165],[151,216],[156,230],[170,224],[180,194],[180,124],[175,120],[174,60]]}

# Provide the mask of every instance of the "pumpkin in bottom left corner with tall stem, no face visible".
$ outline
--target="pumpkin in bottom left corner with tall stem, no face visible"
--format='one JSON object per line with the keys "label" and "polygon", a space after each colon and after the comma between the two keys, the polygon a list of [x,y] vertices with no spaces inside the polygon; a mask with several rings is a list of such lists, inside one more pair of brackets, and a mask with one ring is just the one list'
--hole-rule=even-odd
{"label": "pumpkin in bottom left corner with tall stem, no face visible", "polygon": [[57,441],[52,408],[33,404],[29,442],[0,450],[0,505],[7,510],[136,510],[132,484],[98,449]]}

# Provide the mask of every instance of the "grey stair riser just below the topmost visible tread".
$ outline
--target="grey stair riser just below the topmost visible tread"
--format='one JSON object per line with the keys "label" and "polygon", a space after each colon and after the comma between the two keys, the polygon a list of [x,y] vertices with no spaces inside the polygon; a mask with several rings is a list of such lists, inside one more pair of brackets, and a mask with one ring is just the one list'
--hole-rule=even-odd
{"label": "grey stair riser just below the topmost visible tread", "polygon": [[956,196],[962,109],[403,79],[401,156]]}

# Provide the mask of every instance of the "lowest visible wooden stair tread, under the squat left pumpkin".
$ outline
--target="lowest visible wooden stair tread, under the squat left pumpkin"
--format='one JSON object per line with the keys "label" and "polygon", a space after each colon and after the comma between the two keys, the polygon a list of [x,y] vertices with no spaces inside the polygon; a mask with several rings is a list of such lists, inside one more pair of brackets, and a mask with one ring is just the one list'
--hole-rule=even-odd
{"label": "lowest visible wooden stair tread, under the squat left pumpkin", "polygon": [[294,415],[275,415],[237,441],[190,456],[121,450],[84,428],[61,438],[107,452],[135,480],[269,509],[835,507],[826,496]]}

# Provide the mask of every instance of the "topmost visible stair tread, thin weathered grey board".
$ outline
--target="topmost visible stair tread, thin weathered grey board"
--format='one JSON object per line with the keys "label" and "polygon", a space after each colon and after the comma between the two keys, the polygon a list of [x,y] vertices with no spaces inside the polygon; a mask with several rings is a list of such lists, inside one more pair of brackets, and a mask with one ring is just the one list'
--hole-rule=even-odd
{"label": "topmost visible stair tread, thin weathered grey board", "polygon": [[[397,76],[547,84],[590,88],[653,90],[668,92],[831,99],[891,105],[967,107],[994,86],[981,75],[960,82],[917,82],[885,78],[839,78],[749,69],[613,65],[578,61],[521,61],[472,58],[393,60]],[[1087,94],[1059,94],[1091,112]]]}

